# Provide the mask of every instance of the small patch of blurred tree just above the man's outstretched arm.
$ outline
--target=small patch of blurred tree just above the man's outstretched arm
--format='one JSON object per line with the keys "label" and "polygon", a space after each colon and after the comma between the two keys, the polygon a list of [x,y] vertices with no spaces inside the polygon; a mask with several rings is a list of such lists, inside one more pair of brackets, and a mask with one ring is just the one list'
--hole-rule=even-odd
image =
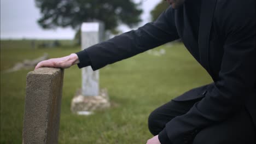
{"label": "small patch of blurred tree just above the man's outstretched arm", "polygon": [[155,21],[158,19],[158,16],[169,7],[170,4],[168,4],[166,1],[161,1],[158,5],[155,6],[155,8],[150,11],[151,19],[152,21]]}

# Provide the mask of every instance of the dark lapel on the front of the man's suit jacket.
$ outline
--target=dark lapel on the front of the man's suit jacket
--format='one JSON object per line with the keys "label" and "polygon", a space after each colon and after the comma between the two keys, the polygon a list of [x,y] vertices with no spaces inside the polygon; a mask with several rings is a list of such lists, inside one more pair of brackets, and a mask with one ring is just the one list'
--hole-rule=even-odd
{"label": "dark lapel on the front of the man's suit jacket", "polygon": [[213,13],[217,0],[202,0],[199,25],[199,55],[201,65],[211,74],[209,65],[209,42]]}

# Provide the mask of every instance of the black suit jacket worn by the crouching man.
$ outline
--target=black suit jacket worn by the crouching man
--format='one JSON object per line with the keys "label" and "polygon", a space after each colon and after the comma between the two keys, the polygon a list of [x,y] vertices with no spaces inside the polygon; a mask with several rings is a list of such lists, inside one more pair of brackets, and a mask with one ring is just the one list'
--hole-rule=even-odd
{"label": "black suit jacket worn by the crouching man", "polygon": [[255,0],[202,0],[197,33],[187,10],[188,1],[178,9],[168,8],[155,22],[136,31],[77,53],[79,67],[86,66],[89,56],[96,70],[181,38],[214,82],[173,99],[203,97],[161,131],[159,139],[171,143],[185,143],[185,137],[224,121],[244,106],[256,125]]}

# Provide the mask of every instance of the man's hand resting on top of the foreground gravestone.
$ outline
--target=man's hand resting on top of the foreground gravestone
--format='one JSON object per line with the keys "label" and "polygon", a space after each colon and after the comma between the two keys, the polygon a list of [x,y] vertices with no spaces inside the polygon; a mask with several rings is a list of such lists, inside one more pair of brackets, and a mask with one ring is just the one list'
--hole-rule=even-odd
{"label": "man's hand resting on top of the foreground gravestone", "polygon": [[75,53],[72,53],[71,55],[66,57],[51,58],[46,61],[39,62],[36,68],[34,69],[36,70],[40,67],[53,67],[53,68],[66,69],[78,63],[79,63],[78,56]]}

